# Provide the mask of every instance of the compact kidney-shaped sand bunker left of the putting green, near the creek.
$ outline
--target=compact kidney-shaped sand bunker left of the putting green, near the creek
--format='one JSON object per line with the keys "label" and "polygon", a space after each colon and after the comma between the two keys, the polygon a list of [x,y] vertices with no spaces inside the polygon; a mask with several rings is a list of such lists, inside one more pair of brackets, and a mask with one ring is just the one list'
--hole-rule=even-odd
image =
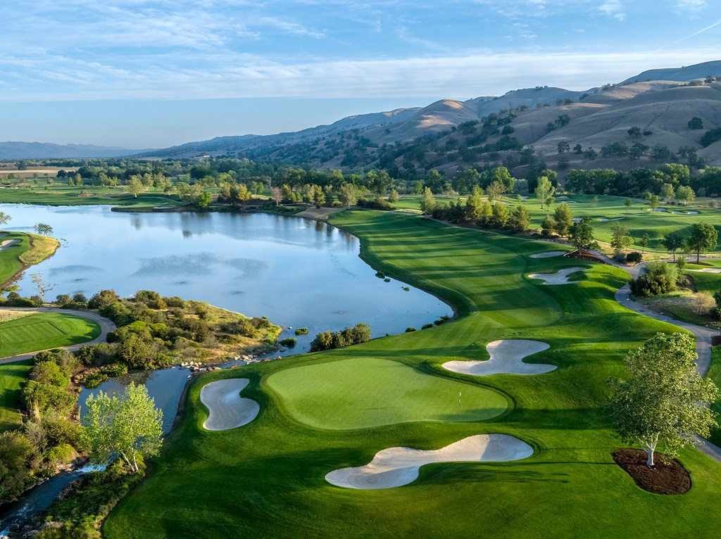
{"label": "compact kidney-shaped sand bunker left of the putting green, near the creek", "polygon": [[200,389],[200,402],[210,411],[203,423],[205,429],[234,429],[255,419],[260,406],[252,399],[240,396],[249,381],[247,378],[230,378],[211,382]]}

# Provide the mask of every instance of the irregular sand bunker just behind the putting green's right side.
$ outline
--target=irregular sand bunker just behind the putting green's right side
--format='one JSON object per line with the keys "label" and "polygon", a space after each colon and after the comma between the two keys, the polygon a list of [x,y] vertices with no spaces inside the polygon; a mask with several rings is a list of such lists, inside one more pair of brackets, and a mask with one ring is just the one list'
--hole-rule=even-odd
{"label": "irregular sand bunker just behind the putting green's right side", "polygon": [[454,373],[487,376],[492,374],[543,374],[556,370],[556,365],[534,365],[524,363],[523,358],[536,352],[549,349],[549,345],[540,341],[508,339],[487,344],[490,355],[487,361],[448,361],[443,368]]}

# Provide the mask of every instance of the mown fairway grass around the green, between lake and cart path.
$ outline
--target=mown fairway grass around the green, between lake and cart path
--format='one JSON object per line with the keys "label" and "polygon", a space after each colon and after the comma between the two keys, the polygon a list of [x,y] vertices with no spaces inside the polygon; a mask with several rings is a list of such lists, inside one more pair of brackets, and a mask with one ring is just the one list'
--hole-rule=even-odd
{"label": "mown fairway grass around the green, between lake and cart path", "polygon": [[[685,450],[680,459],[693,488],[682,496],[659,496],[637,487],[611,460],[622,443],[602,411],[609,396],[606,380],[623,373],[628,349],[657,331],[675,329],[616,303],[614,292],[627,280],[625,272],[578,260],[531,259],[530,254],[557,247],[417,217],[356,211],[337,214],[332,223],[361,237],[362,255],[373,267],[446,298],[459,316],[433,329],[198,378],[152,473],[107,518],[107,538],[717,533],[721,464]],[[540,285],[526,278],[572,266],[586,268],[572,284]],[[537,376],[479,378],[441,367],[451,359],[485,358],[485,345],[505,338],[547,342],[550,349],[539,362],[559,368]],[[260,414],[238,429],[205,431],[200,388],[231,377],[251,380],[242,394],[260,403]],[[457,414],[492,405],[461,399],[445,422],[418,421],[423,412],[393,411],[381,416],[397,424],[338,430],[368,424],[369,405],[394,406],[399,395],[421,410],[419,401],[443,400],[434,394],[441,379],[462,381],[464,395],[472,388],[478,397],[488,390],[503,393],[510,407],[485,421],[456,422]],[[368,389],[357,391],[354,382]],[[390,391],[393,383],[399,395]],[[417,395],[411,386],[419,389]],[[534,455],[512,463],[427,465],[417,481],[397,489],[357,491],[324,481],[329,471],[366,464],[386,447],[435,449],[487,432],[516,436],[534,447]]]}

